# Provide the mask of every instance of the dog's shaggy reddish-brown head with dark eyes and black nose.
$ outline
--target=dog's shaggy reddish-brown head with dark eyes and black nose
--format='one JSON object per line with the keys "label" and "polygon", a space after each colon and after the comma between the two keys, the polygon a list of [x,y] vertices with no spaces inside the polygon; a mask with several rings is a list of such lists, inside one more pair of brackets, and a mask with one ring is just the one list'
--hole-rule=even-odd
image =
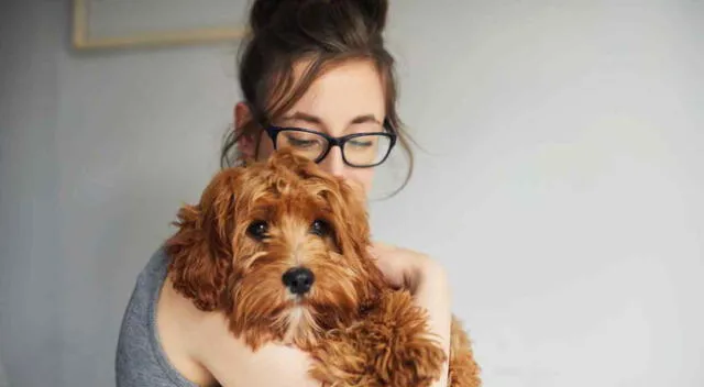
{"label": "dog's shaggy reddish-brown head with dark eyes and black nose", "polygon": [[252,346],[351,321],[384,284],[361,196],[288,152],[219,173],[176,224],[166,243],[175,288],[226,312]]}

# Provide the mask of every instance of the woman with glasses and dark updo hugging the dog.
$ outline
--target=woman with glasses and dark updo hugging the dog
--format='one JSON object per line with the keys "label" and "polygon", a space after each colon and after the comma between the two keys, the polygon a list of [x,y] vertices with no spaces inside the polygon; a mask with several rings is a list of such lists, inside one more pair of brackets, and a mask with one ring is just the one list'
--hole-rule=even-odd
{"label": "woman with glasses and dark updo hugging the dog", "polygon": [[[223,147],[253,159],[293,146],[326,170],[369,192],[374,167],[392,142],[370,135],[373,158],[355,157],[360,141],[330,146],[352,133],[392,133],[407,152],[396,112],[393,57],[384,47],[386,0],[258,0],[250,14],[240,82],[244,101]],[[274,136],[272,126],[298,130]],[[276,139],[276,142],[274,142]],[[339,144],[339,143],[338,143]],[[429,311],[431,329],[449,349],[450,296],[444,272],[422,254],[377,244],[373,254],[387,279],[407,286]],[[305,353],[276,344],[252,353],[227,329],[224,317],[202,312],[165,278],[157,252],[138,279],[122,323],[118,386],[316,386]],[[446,365],[447,367],[447,365]],[[446,368],[447,371],[447,368]],[[447,372],[436,386],[446,386]]]}

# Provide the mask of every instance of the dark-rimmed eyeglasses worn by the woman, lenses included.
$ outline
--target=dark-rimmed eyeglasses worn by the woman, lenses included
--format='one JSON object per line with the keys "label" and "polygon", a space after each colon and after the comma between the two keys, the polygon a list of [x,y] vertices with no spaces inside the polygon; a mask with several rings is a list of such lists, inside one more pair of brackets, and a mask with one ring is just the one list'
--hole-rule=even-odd
{"label": "dark-rimmed eyeglasses worn by the woman, lenses included", "polygon": [[384,163],[396,144],[396,134],[386,123],[384,132],[353,133],[341,137],[301,128],[265,128],[274,150],[290,148],[320,163],[333,146],[339,146],[344,164],[355,168],[370,168]]}

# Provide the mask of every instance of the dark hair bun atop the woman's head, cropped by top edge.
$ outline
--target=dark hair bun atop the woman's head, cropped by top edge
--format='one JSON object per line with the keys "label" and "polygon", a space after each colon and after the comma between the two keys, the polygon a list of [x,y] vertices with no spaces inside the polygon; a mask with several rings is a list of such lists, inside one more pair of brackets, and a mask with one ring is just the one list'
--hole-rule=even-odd
{"label": "dark hair bun atop the woman's head, cropped by top edge", "polygon": [[254,0],[250,26],[257,33],[275,26],[279,18],[296,18],[309,9],[360,14],[370,32],[382,33],[386,26],[388,0]]}

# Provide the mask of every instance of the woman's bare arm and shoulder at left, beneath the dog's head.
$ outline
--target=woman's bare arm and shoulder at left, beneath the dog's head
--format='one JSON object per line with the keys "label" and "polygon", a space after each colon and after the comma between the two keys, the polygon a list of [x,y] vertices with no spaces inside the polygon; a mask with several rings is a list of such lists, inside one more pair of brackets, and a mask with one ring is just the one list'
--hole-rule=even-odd
{"label": "woman's bare arm and shoulder at left, beneath the dog's head", "polygon": [[198,310],[167,280],[160,299],[160,339],[170,363],[198,385],[319,387],[304,352],[268,344],[252,352],[228,329],[223,314]]}

